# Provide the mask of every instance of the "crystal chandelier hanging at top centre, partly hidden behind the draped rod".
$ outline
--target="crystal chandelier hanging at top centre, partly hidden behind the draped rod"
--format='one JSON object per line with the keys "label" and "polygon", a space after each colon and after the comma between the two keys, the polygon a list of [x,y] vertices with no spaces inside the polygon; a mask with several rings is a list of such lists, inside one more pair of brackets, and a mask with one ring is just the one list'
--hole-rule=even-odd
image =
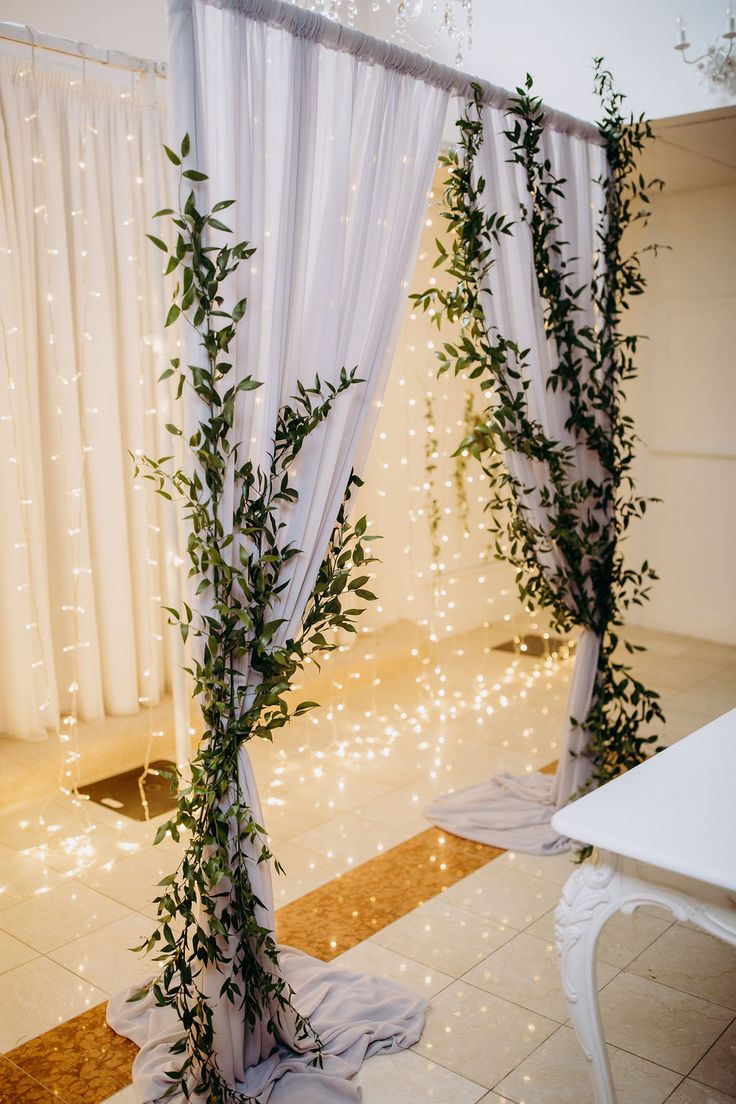
{"label": "crystal chandelier hanging at top centre, partly hidden behind the draped rod", "polygon": [[[300,8],[320,12],[346,26],[365,29],[363,12],[375,15],[393,12],[391,42],[431,56],[435,45],[449,38],[455,45],[455,62],[462,65],[472,45],[472,0],[295,0]],[[417,36],[419,17],[428,38]],[[426,32],[425,32],[426,33]]]}

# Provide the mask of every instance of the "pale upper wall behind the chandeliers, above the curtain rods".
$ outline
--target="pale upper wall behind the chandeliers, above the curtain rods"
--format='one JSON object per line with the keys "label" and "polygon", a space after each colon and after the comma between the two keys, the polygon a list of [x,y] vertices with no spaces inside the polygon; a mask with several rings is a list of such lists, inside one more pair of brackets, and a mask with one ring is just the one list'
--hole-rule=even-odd
{"label": "pale upper wall behind the chandeliers, above the curtain rods", "polygon": [[[393,18],[358,0],[360,23],[387,35]],[[435,26],[425,12],[413,25],[428,41]],[[705,110],[733,96],[703,85],[672,49],[682,13],[694,45],[703,47],[725,30],[726,0],[474,0],[473,46],[465,68],[514,87],[531,72],[546,102],[586,118],[597,105],[590,91],[594,55],[604,54],[636,112],[651,117]],[[0,19],[29,23],[97,45],[146,57],[166,57],[164,0],[0,0]],[[433,55],[454,64],[455,49],[437,38]]]}

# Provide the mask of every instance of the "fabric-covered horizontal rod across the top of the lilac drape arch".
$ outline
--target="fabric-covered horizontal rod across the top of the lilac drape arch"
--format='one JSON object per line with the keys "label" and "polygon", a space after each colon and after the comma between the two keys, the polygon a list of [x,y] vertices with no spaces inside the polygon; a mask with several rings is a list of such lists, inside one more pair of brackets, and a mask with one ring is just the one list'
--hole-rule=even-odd
{"label": "fabric-covered horizontal rod across the top of the lilac drape arch", "polygon": [[[169,9],[170,11],[186,10],[192,7],[193,2],[194,0],[169,0]],[[404,46],[375,39],[373,35],[365,34],[354,28],[344,26],[337,20],[328,19],[326,15],[303,8],[297,8],[296,4],[286,3],[284,0],[202,0],[202,2],[214,8],[238,11],[250,19],[288,31],[297,38],[309,39],[332,50],[352,54],[369,63],[410,74],[419,81],[438,85],[447,92],[470,97],[472,95],[471,85],[478,84],[482,89],[484,103],[493,107],[508,108],[514,99],[513,94],[506,88],[490,84],[488,81],[481,81],[479,77],[468,76],[467,73],[452,68],[450,65],[442,65],[423,54],[406,50]],[[574,135],[596,145],[602,144],[600,130],[594,123],[578,119],[565,112],[554,110],[546,105],[543,105],[543,109],[547,125],[553,129]]]}

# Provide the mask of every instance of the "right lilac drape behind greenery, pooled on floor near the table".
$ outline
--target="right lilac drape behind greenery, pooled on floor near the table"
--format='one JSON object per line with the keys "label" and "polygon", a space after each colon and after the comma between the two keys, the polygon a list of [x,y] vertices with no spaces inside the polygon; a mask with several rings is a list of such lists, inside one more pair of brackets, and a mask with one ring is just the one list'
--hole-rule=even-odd
{"label": "right lilac drape behind greenery, pooled on floor near the table", "polygon": [[[566,392],[547,388],[557,353],[554,342],[545,336],[544,304],[534,270],[531,230],[519,217],[520,203],[527,204],[529,195],[521,167],[510,161],[509,141],[503,135],[509,128],[508,118],[503,110],[487,106],[482,119],[483,142],[476,171],[486,180],[483,208],[488,213],[501,211],[515,223],[513,234],[502,235],[498,248],[494,247],[497,263],[490,273],[493,299],[489,314],[504,337],[515,341],[520,349],[530,350],[526,395],[531,417],[541,423],[548,437],[572,446],[575,479],[600,482],[602,474],[597,457],[565,427],[569,414]],[[606,152],[599,141],[575,127],[566,132],[547,127],[542,152],[550,159],[555,176],[566,181],[564,198],[553,198],[563,220],[558,236],[565,243],[563,255],[575,273],[573,283],[576,287],[587,287],[578,299],[580,322],[593,326],[595,316],[589,288],[602,204],[602,189],[597,181],[608,171]],[[506,463],[511,474],[527,490],[524,508],[530,511],[534,524],[543,529],[540,492],[545,489],[546,469],[518,453],[509,453]],[[562,555],[559,549],[552,551],[558,566],[563,565]],[[582,613],[578,596],[569,595],[569,608],[575,616]],[[579,754],[587,735],[583,728],[573,724],[572,718],[583,720],[589,710],[599,647],[599,636],[593,627],[584,625],[555,776],[502,774],[442,795],[425,810],[435,824],[469,839],[533,854],[554,853],[569,847],[569,841],[561,839],[552,829],[551,819],[590,776],[590,763]]]}

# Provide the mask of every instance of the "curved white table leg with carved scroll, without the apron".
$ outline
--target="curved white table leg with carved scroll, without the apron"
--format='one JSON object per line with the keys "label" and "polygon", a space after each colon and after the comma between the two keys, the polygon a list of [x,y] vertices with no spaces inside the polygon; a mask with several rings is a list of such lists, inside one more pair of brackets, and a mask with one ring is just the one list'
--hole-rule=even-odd
{"label": "curved white table leg with carved scroll, without the apron", "polygon": [[618,909],[621,875],[615,866],[583,863],[565,883],[557,905],[555,944],[570,1021],[589,1062],[596,1104],[616,1104],[604,1040],[596,973],[596,946]]}

